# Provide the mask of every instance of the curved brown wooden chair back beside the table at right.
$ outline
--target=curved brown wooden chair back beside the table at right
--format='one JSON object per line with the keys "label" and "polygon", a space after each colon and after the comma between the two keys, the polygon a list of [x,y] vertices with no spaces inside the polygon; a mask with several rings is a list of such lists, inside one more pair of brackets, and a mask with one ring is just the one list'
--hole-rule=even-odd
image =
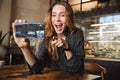
{"label": "curved brown wooden chair back beside the table at right", "polygon": [[100,72],[102,80],[104,80],[104,74],[107,72],[106,68],[97,63],[85,62],[85,71]]}

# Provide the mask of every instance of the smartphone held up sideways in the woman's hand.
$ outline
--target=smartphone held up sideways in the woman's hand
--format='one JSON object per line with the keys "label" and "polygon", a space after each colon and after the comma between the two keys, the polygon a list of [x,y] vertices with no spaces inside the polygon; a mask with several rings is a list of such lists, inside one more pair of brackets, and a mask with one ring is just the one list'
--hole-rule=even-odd
{"label": "smartphone held up sideways in the woman's hand", "polygon": [[44,39],[44,23],[16,23],[16,37]]}

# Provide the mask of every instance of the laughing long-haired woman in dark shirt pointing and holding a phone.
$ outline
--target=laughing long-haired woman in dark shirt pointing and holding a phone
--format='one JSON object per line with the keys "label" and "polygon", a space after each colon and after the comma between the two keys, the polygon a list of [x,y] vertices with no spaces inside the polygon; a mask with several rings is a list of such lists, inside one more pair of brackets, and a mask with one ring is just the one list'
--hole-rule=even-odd
{"label": "laughing long-haired woman in dark shirt pointing and holding a phone", "polygon": [[43,68],[68,71],[70,73],[84,72],[84,37],[83,32],[75,27],[74,14],[71,6],[65,1],[55,2],[45,17],[45,38],[40,43],[36,55],[30,49],[30,42],[24,38],[15,37],[32,73],[41,73]]}

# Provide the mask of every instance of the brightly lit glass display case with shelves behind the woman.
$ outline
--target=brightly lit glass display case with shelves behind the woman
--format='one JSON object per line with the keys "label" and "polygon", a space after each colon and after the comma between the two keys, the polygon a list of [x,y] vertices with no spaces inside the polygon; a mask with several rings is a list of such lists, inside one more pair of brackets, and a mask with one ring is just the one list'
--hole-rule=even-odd
{"label": "brightly lit glass display case with shelves behind the woman", "polygon": [[120,58],[120,15],[102,16],[98,21],[86,28],[86,54]]}

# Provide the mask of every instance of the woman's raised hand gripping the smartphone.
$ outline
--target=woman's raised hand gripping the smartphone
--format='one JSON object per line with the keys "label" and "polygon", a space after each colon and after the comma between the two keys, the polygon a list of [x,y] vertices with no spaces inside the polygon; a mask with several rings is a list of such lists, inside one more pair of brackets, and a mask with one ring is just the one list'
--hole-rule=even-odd
{"label": "woman's raised hand gripping the smartphone", "polygon": [[20,47],[20,48],[25,48],[25,47],[29,47],[30,46],[30,41],[28,39],[25,39],[25,38],[17,38],[16,37],[16,23],[25,23],[26,21],[25,20],[15,20],[13,23],[12,23],[12,30],[13,30],[13,37],[14,37],[14,40],[16,42],[16,44]]}

